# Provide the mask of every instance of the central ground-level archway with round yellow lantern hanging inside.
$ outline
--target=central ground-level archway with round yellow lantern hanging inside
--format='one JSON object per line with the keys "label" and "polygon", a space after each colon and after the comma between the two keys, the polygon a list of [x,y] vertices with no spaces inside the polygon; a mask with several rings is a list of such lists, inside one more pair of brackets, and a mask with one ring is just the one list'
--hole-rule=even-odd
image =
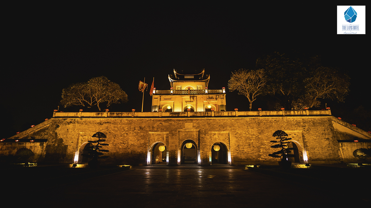
{"label": "central ground-level archway with round yellow lantern hanging inside", "polygon": [[180,149],[181,165],[197,165],[197,145],[193,140],[185,140]]}

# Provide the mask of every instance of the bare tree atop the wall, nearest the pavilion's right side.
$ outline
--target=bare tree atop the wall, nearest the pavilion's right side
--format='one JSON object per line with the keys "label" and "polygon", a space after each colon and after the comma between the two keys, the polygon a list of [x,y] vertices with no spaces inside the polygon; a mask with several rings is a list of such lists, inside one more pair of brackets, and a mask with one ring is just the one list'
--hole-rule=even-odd
{"label": "bare tree atop the wall, nearest the pavilion's right side", "polygon": [[250,70],[239,69],[232,72],[232,76],[228,81],[230,91],[237,90],[238,94],[245,95],[250,102],[250,111],[253,101],[262,93],[262,88],[267,82],[265,71],[263,69]]}

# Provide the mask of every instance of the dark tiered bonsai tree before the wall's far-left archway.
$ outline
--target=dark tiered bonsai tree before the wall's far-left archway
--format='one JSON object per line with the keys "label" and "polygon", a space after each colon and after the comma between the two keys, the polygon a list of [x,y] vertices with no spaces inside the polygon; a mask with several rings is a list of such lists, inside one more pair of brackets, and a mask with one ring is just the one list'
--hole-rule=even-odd
{"label": "dark tiered bonsai tree before the wall's far-left archway", "polygon": [[98,139],[95,141],[88,141],[92,143],[92,145],[89,147],[89,150],[88,150],[89,154],[87,155],[83,154],[83,155],[86,157],[92,158],[92,160],[88,162],[89,167],[96,168],[99,165],[98,159],[108,158],[108,156],[102,156],[103,152],[109,152],[109,151],[101,149],[103,146],[108,146],[108,144],[104,143],[106,141],[105,138],[107,138],[104,133],[96,132],[95,134],[93,134],[92,137],[95,137]]}

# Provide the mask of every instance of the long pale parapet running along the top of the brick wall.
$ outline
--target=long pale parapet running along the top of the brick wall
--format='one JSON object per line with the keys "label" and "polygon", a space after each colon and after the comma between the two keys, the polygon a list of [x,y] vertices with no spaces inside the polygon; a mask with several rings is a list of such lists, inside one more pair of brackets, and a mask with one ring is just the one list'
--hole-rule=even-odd
{"label": "long pale parapet running along the top of the brick wall", "polygon": [[330,110],[314,111],[214,111],[214,112],[54,112],[53,117],[211,117],[211,116],[295,116],[331,115]]}

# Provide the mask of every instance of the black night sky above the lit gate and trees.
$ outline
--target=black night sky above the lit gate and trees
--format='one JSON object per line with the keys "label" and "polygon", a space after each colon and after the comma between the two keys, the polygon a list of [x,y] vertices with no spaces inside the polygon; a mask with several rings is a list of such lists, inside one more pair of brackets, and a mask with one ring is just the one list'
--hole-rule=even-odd
{"label": "black night sky above the lit gate and trees", "polygon": [[[3,138],[52,117],[62,89],[73,83],[106,76],[129,98],[111,111],[140,111],[138,82],[144,77],[168,89],[174,68],[205,68],[209,89],[220,89],[232,71],[253,69],[257,58],[274,51],[318,55],[323,66],[349,71],[351,92],[345,103],[331,106],[335,116],[359,105],[370,109],[366,36],[336,35],[336,6],[32,4],[11,6],[5,16]],[[151,111],[148,91],[144,97],[144,111]],[[227,92],[227,110],[234,108],[248,110],[247,98]]]}

